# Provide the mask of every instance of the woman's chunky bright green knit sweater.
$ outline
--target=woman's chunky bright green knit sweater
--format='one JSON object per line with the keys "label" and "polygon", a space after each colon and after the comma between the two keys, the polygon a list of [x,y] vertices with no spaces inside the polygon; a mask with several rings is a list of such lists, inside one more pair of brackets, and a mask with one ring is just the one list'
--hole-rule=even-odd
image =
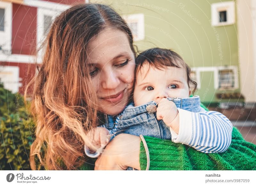
{"label": "woman's chunky bright green knit sweater", "polygon": [[[223,153],[202,153],[194,148],[170,140],[144,136],[149,150],[149,170],[256,170],[256,145],[246,142],[237,128],[233,128],[231,145]],[[90,159],[80,170],[93,170]],[[147,167],[147,157],[140,143],[140,168]]]}

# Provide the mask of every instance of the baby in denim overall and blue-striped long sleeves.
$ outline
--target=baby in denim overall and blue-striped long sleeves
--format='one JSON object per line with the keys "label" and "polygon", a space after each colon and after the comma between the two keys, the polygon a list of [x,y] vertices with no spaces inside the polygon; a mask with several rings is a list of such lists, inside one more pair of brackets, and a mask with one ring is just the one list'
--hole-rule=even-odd
{"label": "baby in denim overall and blue-striped long sleeves", "polygon": [[[223,114],[205,111],[198,96],[189,97],[196,83],[190,68],[172,50],[154,48],[136,58],[133,102],[109,125],[89,131],[93,144],[100,145],[97,157],[110,140],[109,134],[127,133],[171,139],[204,153],[224,152],[231,143],[232,124]],[[106,128],[108,130],[106,130]]]}

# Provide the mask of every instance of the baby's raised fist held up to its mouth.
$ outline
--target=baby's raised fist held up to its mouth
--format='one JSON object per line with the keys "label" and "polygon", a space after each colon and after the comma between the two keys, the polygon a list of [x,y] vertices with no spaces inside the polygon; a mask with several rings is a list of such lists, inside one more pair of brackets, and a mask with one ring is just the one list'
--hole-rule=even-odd
{"label": "baby's raised fist held up to its mouth", "polygon": [[[163,120],[168,127],[173,127],[172,121],[174,121],[178,114],[178,109],[175,103],[172,101],[169,101],[166,98],[162,98],[158,103],[158,107],[156,109],[156,119]],[[175,128],[176,127],[177,126],[175,126]]]}

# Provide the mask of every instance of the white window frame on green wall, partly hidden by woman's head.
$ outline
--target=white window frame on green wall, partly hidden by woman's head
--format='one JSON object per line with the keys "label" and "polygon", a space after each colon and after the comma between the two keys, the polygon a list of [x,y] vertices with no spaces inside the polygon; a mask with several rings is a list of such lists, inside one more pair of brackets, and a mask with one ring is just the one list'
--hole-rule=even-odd
{"label": "white window frame on green wall, partly hidden by woman's head", "polygon": [[133,22],[133,21],[138,22],[138,28],[137,28],[138,34],[133,35],[133,38],[134,38],[134,41],[143,40],[145,38],[144,14],[140,13],[140,14],[124,15],[123,18],[128,23],[128,25],[129,25],[129,22]]}

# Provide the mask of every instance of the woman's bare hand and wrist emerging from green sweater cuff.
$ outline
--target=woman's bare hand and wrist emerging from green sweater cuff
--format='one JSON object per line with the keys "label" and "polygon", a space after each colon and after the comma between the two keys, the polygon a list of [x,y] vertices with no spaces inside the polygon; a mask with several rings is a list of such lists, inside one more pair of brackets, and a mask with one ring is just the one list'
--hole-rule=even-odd
{"label": "woman's bare hand and wrist emerging from green sweater cuff", "polygon": [[133,167],[140,170],[139,136],[117,135],[95,162],[95,170],[126,170]]}

